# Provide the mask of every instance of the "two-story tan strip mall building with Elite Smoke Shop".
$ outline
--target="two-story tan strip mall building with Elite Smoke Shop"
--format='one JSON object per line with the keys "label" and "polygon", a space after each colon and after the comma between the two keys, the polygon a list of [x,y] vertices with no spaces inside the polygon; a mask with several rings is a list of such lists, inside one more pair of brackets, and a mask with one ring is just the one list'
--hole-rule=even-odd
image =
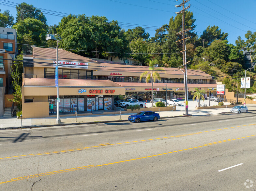
{"label": "two-story tan strip mall building with Elite Smoke Shop", "polygon": [[[60,115],[113,111],[115,95],[151,99],[151,83],[140,81],[146,66],[100,63],[58,50]],[[33,55],[23,57],[23,118],[56,115],[55,67],[56,49],[33,47]],[[184,99],[184,73],[174,68],[159,71],[161,80],[154,83],[154,98]],[[188,70],[188,96],[195,88],[206,91],[205,97],[216,95],[216,81],[200,70]],[[49,103],[53,103],[51,113]]]}

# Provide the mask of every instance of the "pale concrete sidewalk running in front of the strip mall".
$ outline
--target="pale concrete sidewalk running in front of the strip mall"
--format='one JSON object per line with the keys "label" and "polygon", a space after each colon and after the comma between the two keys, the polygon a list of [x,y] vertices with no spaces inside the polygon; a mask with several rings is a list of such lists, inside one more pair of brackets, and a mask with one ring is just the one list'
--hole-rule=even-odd
{"label": "pale concrete sidewalk running in front of the strip mall", "polygon": [[[192,104],[191,104],[192,105]],[[249,111],[256,110],[255,104],[247,104]],[[192,116],[198,115],[214,115],[220,114],[223,112],[230,112],[231,108],[218,108],[218,109],[193,109],[193,106],[189,108],[189,114]],[[177,107],[176,111],[160,111],[160,117],[182,117],[185,113],[184,107]],[[109,114],[109,115],[91,115],[91,116],[78,116],[77,122],[75,121],[74,116],[62,116],[61,124],[59,125],[72,125],[72,124],[83,124],[83,123],[97,123],[97,122],[114,122],[114,121],[127,121],[128,116],[135,114],[121,114],[121,120],[119,114]],[[9,128],[26,128],[26,127],[43,127],[43,126],[56,126],[56,118],[34,118],[34,119],[23,119],[21,125],[21,119],[16,117],[12,118],[2,118],[0,119],[0,129],[9,129]]]}

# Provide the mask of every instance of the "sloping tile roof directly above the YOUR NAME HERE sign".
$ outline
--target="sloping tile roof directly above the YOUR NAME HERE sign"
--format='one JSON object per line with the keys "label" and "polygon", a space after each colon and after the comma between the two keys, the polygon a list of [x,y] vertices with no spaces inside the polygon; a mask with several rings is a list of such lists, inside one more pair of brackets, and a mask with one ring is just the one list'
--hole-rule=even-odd
{"label": "sloping tile roof directly above the YOUR NAME HERE sign", "polygon": [[[51,59],[56,60],[56,49],[55,48],[40,48],[40,47],[33,47],[33,58],[36,59]],[[58,49],[58,59],[59,60],[77,60],[77,61],[84,61],[90,63],[98,63],[95,60],[92,60],[87,57],[80,56],[78,54],[68,52],[66,50]]]}

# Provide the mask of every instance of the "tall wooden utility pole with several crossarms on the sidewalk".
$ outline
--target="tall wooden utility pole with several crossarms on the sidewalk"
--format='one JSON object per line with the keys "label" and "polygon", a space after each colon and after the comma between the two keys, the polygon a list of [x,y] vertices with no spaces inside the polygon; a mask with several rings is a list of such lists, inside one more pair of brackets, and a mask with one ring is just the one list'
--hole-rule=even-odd
{"label": "tall wooden utility pole with several crossarms on the sidewalk", "polygon": [[[176,0],[178,1],[178,0]],[[184,85],[185,85],[185,114],[188,115],[188,80],[187,80],[187,58],[186,58],[186,39],[191,38],[187,37],[185,38],[185,32],[190,31],[191,29],[186,29],[185,30],[185,11],[190,8],[190,4],[185,8],[185,4],[188,2],[189,0],[182,0],[182,3],[180,5],[175,5],[175,7],[181,7],[182,6],[182,10],[179,12],[175,12],[176,14],[180,14],[182,13],[182,31],[178,32],[177,35],[182,34],[182,39],[178,40],[176,42],[181,42],[182,41],[182,51],[183,52],[183,67],[184,67]],[[181,67],[181,66],[180,66]]]}

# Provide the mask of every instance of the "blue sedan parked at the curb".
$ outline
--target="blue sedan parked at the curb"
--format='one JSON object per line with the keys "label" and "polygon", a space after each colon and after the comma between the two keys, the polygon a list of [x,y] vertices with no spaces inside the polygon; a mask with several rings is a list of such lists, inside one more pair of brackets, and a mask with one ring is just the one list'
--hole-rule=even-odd
{"label": "blue sedan parked at the curb", "polygon": [[142,111],[140,113],[137,113],[136,115],[130,115],[128,117],[128,121],[137,122],[137,123],[141,121],[149,121],[149,120],[157,121],[159,119],[160,119],[159,114],[153,111]]}

